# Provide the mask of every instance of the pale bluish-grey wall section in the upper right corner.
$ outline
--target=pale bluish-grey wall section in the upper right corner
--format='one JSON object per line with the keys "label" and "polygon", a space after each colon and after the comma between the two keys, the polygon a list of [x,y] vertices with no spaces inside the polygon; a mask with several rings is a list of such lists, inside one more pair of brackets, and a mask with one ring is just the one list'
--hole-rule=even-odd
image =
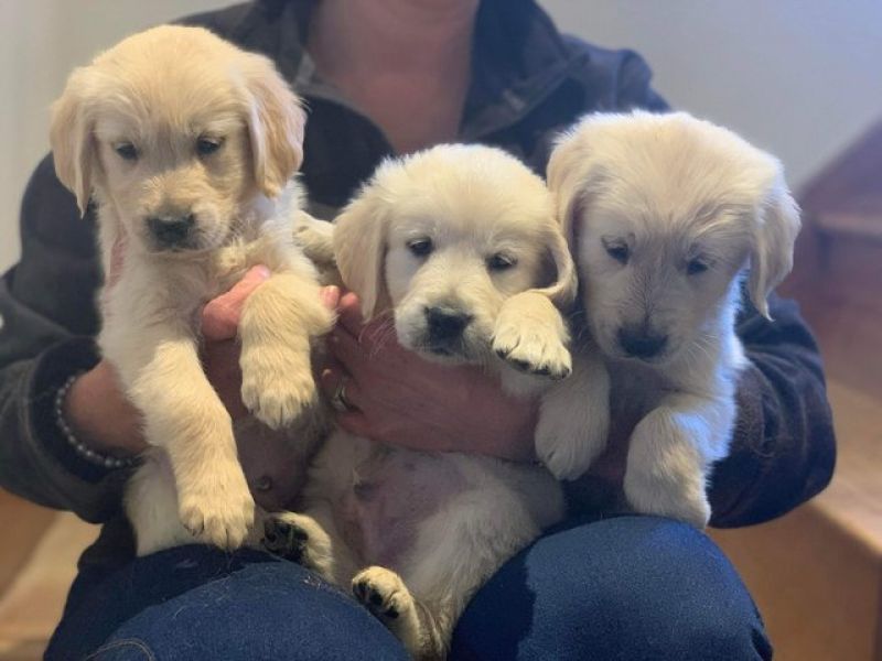
{"label": "pale bluish-grey wall section in the upper right corner", "polygon": [[558,24],[634,47],[677,108],[777,154],[792,185],[882,120],[879,0],[547,0]]}

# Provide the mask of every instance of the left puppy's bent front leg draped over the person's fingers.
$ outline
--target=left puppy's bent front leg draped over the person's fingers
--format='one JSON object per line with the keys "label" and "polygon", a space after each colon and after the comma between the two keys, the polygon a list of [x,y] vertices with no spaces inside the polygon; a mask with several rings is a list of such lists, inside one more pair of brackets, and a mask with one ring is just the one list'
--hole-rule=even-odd
{"label": "left puppy's bent front leg draped over the person's fingers", "polygon": [[310,342],[333,325],[316,283],[272,275],[248,297],[239,323],[241,399],[271,429],[290,424],[315,401]]}

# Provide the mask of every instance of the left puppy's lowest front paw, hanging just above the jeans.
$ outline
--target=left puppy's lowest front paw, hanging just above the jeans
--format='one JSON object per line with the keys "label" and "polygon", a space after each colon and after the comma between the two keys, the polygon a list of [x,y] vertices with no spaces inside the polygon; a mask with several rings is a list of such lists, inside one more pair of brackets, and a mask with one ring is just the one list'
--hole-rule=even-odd
{"label": "left puppy's lowest front paw, hanging just above the jeans", "polygon": [[238,464],[215,468],[211,479],[202,483],[180,489],[181,523],[201,542],[228,551],[238,549],[255,518],[255,501],[241,468]]}

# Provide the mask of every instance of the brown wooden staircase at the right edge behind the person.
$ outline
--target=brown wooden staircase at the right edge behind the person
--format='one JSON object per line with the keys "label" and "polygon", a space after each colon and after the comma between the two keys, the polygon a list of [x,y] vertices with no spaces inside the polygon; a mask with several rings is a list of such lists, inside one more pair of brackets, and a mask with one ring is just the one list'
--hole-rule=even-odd
{"label": "brown wooden staircase at the right edge behind the person", "polygon": [[882,123],[809,184],[795,297],[824,355],[832,483],[794,512],[714,531],[782,661],[882,661]]}

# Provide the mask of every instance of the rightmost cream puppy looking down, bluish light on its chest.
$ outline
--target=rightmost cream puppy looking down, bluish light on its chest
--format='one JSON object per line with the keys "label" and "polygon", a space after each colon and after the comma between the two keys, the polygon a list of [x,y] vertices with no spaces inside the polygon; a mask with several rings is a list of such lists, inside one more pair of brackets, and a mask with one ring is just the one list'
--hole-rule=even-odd
{"label": "rightmost cream puppy looking down, bluish light on its chest", "polygon": [[734,329],[742,281],[768,316],[799,230],[781,163],[682,112],[595,115],[560,140],[548,180],[612,397],[641,419],[625,496],[703,527],[746,360]]}

